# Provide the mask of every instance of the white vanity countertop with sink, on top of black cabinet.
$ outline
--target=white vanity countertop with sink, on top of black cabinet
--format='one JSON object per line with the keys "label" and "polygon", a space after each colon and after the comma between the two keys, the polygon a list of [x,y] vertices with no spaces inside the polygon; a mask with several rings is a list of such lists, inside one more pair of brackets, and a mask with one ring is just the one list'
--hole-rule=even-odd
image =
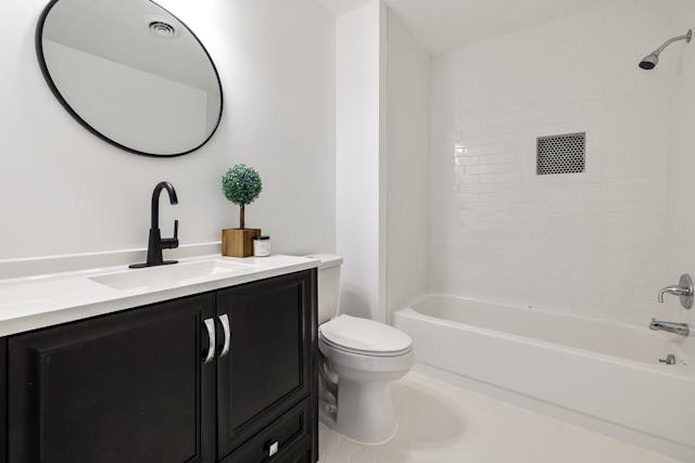
{"label": "white vanity countertop with sink, on top of black cabinet", "polygon": [[218,255],[0,280],[0,337],[318,267],[293,256]]}

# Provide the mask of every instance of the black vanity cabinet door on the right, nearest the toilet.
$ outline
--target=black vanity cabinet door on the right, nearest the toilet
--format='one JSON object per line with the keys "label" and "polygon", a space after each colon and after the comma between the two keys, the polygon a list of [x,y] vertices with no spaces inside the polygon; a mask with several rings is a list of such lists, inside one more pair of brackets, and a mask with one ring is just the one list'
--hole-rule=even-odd
{"label": "black vanity cabinet door on the right, nearest the toilet", "polygon": [[[217,316],[228,320],[230,333],[225,355],[227,337],[220,323],[217,452],[222,460],[316,390],[316,271],[222,291]],[[315,427],[315,404],[309,415]],[[315,440],[316,429],[309,434]]]}

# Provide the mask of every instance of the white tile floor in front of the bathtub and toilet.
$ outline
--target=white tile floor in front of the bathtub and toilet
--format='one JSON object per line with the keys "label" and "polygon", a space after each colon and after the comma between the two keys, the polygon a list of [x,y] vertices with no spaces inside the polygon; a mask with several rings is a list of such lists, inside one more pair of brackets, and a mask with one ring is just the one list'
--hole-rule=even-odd
{"label": "white tile floor in front of the bathtub and toilet", "polygon": [[393,385],[399,432],[362,446],[324,424],[320,463],[675,463],[419,373]]}

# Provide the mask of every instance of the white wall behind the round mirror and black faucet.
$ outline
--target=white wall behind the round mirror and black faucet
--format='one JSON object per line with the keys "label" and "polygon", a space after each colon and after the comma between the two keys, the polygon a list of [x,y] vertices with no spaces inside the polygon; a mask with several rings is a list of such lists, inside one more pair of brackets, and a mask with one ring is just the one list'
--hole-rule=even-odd
{"label": "white wall behind the round mirror and black faucet", "polygon": [[41,77],[34,30],[45,0],[3,5],[0,60],[0,259],[147,245],[150,195],[169,180],[182,244],[219,241],[238,210],[219,179],[235,163],[264,180],[247,222],[280,253],[334,248],[334,21],[314,0],[162,1],[206,44],[225,115],[199,152],[155,159],[121,152],[83,129]]}

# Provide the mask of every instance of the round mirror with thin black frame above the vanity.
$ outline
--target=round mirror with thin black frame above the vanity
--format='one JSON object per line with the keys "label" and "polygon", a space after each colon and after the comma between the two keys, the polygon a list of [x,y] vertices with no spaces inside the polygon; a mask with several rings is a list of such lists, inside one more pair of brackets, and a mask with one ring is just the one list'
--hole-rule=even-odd
{"label": "round mirror with thin black frame above the vanity", "polygon": [[53,0],[38,24],[46,80],[85,128],[148,156],[201,147],[222,117],[222,83],[195,35],[150,0]]}

